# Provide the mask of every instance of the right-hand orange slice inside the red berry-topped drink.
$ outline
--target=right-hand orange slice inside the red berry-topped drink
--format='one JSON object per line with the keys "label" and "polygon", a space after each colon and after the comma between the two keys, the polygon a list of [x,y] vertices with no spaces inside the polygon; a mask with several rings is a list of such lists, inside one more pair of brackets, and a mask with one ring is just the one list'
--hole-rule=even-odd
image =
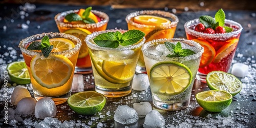
{"label": "right-hand orange slice inside the red berry-topped drink", "polygon": [[234,49],[236,49],[238,44],[238,39],[234,38],[230,40],[227,44],[222,46],[217,52],[214,62],[220,62],[221,59],[229,55]]}

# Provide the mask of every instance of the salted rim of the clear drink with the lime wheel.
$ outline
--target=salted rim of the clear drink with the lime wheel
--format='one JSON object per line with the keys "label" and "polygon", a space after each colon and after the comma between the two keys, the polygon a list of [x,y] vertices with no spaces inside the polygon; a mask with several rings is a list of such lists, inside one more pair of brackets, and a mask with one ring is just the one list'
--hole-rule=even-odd
{"label": "salted rim of the clear drink with the lime wheel", "polygon": [[[152,54],[150,52],[147,51],[147,48],[148,47],[151,47],[151,46],[155,46],[155,45],[159,45],[159,44],[163,44],[162,42],[164,41],[169,41],[169,42],[183,42],[185,44],[188,44],[189,46],[193,46],[195,47],[195,50],[194,52],[196,52],[196,54],[193,54],[193,55],[189,55],[189,56],[185,56],[185,57],[166,57],[166,56],[157,56],[155,54]],[[197,59],[198,57],[200,57],[203,52],[204,52],[204,48],[198,44],[198,42],[194,41],[194,40],[187,40],[187,39],[184,39],[184,38],[161,38],[161,39],[154,39],[154,40],[151,40],[151,41],[148,41],[148,42],[145,42],[145,44],[142,46],[141,48],[141,51],[143,52],[143,55],[151,58],[151,59],[154,59],[154,60],[158,60],[158,61],[170,61],[170,60],[181,60],[181,61],[188,61],[188,60],[191,60],[191,59]]]}

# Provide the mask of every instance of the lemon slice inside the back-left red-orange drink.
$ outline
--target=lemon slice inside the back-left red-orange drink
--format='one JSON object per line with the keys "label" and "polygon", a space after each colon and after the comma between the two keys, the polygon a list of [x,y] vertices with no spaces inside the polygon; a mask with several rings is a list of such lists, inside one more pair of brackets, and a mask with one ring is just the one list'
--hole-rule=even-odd
{"label": "lemon slice inside the back-left red-orange drink", "polygon": [[88,48],[84,39],[86,38],[87,35],[91,34],[90,31],[88,31],[87,29],[75,28],[75,29],[69,29],[67,31],[64,31],[64,33],[74,35],[79,39],[81,39],[82,46],[80,48],[78,58],[83,58],[88,55]]}

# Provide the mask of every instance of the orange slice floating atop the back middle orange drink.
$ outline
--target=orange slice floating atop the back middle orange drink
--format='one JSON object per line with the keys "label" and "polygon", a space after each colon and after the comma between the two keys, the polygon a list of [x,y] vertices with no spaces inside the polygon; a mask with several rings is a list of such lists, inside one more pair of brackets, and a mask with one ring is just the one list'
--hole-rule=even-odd
{"label": "orange slice floating atop the back middle orange drink", "polygon": [[154,16],[154,15],[139,15],[134,18],[134,22],[142,25],[159,26],[170,24],[167,18]]}

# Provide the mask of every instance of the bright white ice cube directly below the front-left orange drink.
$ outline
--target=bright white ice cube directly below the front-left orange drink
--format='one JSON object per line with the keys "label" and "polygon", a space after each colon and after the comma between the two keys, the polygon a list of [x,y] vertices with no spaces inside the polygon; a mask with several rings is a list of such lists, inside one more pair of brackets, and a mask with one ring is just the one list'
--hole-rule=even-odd
{"label": "bright white ice cube directly below the front-left orange drink", "polygon": [[56,115],[56,105],[51,98],[41,98],[35,104],[35,117],[45,119]]}

